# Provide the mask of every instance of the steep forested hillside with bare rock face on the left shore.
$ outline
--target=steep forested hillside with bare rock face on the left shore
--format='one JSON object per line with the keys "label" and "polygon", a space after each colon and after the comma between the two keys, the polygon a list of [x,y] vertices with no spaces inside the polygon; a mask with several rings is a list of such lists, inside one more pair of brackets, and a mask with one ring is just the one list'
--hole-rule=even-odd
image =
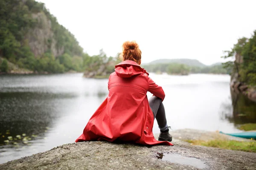
{"label": "steep forested hillside with bare rock face on the left shore", "polygon": [[44,3],[0,0],[0,72],[13,71],[13,65],[39,73],[87,71],[111,61],[116,58],[102,50],[96,56],[85,54]]}

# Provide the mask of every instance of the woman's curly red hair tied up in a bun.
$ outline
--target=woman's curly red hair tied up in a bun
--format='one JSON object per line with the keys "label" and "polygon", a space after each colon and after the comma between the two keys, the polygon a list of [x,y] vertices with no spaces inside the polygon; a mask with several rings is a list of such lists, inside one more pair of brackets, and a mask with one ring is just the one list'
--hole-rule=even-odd
{"label": "woman's curly red hair tied up in a bun", "polygon": [[140,65],[141,63],[141,51],[139,45],[135,41],[126,41],[122,45],[123,51],[120,58],[125,60],[131,60],[137,62]]}

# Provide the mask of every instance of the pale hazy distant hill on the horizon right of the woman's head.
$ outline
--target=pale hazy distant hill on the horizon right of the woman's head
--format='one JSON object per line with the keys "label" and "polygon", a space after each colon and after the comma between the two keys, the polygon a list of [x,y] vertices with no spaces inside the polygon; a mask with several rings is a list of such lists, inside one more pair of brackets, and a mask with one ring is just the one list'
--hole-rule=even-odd
{"label": "pale hazy distant hill on the horizon right of the woman's head", "polygon": [[179,64],[186,64],[189,66],[206,67],[206,65],[204,65],[197,59],[157,59],[152,62],[149,62],[148,64],[158,64],[158,63],[179,63]]}

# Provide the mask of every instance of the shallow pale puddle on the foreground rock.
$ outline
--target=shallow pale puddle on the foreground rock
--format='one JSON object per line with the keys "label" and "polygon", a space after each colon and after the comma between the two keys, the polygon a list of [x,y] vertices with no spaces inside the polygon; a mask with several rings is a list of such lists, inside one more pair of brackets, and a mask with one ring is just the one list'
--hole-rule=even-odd
{"label": "shallow pale puddle on the foreground rock", "polygon": [[172,163],[177,164],[183,164],[183,165],[190,165],[192,167],[197,167],[199,169],[204,169],[207,167],[207,165],[204,163],[204,161],[201,161],[200,159],[181,156],[177,153],[157,153],[157,159],[162,159],[163,161],[169,161]]}

